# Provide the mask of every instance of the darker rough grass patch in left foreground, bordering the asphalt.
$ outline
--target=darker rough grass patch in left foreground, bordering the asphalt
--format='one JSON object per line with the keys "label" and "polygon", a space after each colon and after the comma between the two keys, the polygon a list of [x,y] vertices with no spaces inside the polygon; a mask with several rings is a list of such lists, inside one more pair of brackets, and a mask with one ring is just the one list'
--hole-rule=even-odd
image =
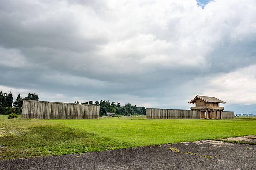
{"label": "darker rough grass patch in left foreground, bordering the asphalt", "polygon": [[75,154],[126,148],[127,143],[62,125],[37,126],[0,136],[0,159]]}

